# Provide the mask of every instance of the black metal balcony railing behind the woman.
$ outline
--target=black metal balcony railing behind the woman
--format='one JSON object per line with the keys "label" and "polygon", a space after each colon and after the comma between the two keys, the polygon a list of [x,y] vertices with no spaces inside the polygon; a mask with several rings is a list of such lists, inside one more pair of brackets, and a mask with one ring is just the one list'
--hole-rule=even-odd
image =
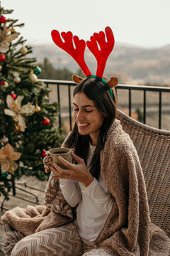
{"label": "black metal balcony railing behind the woman", "polygon": [[[46,80],[46,79],[40,79],[39,81],[44,82],[47,87],[57,87],[57,98],[56,101],[61,103],[61,91],[60,87],[64,85],[64,87],[67,87],[67,96],[68,96],[68,114],[69,114],[69,129],[72,129],[72,95],[71,95],[71,87],[74,87],[76,85],[75,82],[72,81],[65,81],[65,80]],[[141,122],[146,124],[146,117],[147,117],[147,92],[157,92],[159,95],[159,100],[157,103],[158,107],[158,127],[159,129],[162,129],[162,93],[163,92],[169,92],[170,93],[170,87],[158,87],[158,86],[147,86],[147,85],[117,85],[115,87],[115,90],[117,92],[120,92],[120,90],[126,90],[127,98],[128,98],[128,104],[126,104],[128,107],[128,114],[132,115],[132,91],[141,91],[143,95],[142,100],[142,115],[143,119]],[[135,104],[137,105],[137,103]],[[119,106],[119,97],[118,97],[118,106]],[[141,107],[141,104],[140,104]],[[166,101],[166,109],[169,112],[170,116],[170,94],[169,94],[169,100]],[[62,113],[59,114],[58,117],[59,121],[59,127],[62,127]],[[169,126],[170,129],[170,126]]]}

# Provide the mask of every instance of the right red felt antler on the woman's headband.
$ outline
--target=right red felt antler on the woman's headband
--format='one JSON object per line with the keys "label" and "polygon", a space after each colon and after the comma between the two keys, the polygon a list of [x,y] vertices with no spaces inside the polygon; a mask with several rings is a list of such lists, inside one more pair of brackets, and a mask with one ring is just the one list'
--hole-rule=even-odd
{"label": "right red felt antler on the woman's headband", "polygon": [[[96,75],[99,78],[102,78],[104,69],[106,66],[106,61],[108,56],[111,54],[113,50],[115,40],[113,36],[113,32],[110,27],[105,28],[107,42],[105,41],[105,33],[103,31],[99,33],[94,33],[94,36],[91,36],[91,41],[87,41],[87,47],[94,54],[97,60],[97,72]],[[101,50],[98,49],[98,44]]]}

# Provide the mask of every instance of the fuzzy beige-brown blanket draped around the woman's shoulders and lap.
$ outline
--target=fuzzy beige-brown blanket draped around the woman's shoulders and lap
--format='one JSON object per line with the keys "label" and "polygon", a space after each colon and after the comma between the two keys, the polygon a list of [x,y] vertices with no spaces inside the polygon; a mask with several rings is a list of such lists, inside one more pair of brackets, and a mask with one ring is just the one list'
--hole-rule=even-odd
{"label": "fuzzy beige-brown blanket draped around the woman's shoulders and lap", "polygon": [[[169,256],[170,240],[150,223],[149,206],[137,151],[118,120],[108,131],[101,151],[101,175],[113,198],[113,208],[95,242],[113,256]],[[73,220],[59,181],[49,179],[46,206],[7,211],[1,220],[25,235]],[[90,209],[89,209],[90,210]]]}

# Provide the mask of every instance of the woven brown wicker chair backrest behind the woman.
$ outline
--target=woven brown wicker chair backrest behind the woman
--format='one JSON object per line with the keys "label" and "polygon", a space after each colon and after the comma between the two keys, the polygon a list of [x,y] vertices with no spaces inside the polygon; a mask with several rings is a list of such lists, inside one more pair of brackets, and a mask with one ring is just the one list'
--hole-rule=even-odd
{"label": "woven brown wicker chair backrest behind the woman", "polygon": [[170,236],[170,132],[137,122],[118,110],[140,157],[152,223]]}

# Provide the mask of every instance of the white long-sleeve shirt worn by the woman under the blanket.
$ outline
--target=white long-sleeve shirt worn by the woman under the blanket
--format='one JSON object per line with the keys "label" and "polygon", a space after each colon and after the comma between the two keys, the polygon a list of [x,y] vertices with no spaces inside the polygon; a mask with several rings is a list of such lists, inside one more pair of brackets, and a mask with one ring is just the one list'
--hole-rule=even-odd
{"label": "white long-sleeve shirt worn by the woman under the blanket", "polygon": [[[96,146],[90,145],[87,166],[89,166]],[[89,169],[87,167],[87,169]],[[110,193],[103,178],[94,178],[89,186],[70,179],[60,179],[64,199],[70,206],[77,206],[77,231],[84,240],[93,242],[101,231],[113,206]]]}

